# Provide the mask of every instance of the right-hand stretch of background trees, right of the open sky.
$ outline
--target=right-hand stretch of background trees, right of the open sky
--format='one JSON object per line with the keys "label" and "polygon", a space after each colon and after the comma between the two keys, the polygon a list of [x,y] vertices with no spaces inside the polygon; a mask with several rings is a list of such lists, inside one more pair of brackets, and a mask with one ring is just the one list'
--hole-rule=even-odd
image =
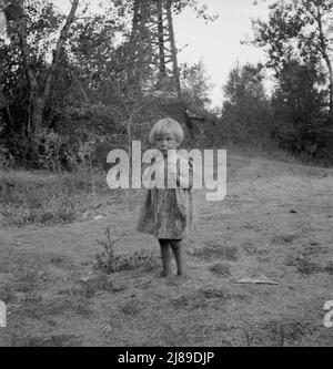
{"label": "right-hand stretch of background trees, right of the open sky", "polygon": [[269,8],[268,21],[253,20],[248,41],[263,48],[266,63],[231,71],[218,131],[235,143],[275,143],[332,163],[333,1],[281,0]]}

